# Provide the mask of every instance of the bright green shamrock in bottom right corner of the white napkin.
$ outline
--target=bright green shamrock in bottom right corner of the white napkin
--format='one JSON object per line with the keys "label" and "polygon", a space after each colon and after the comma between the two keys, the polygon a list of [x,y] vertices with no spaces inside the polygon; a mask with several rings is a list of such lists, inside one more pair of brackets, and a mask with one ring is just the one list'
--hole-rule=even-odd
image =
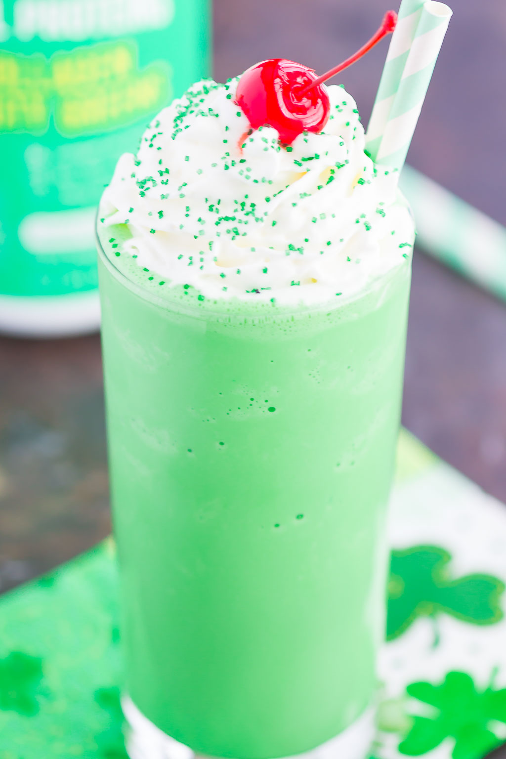
{"label": "bright green shamrock in bottom right corner of the white napkin", "polygon": [[495,723],[506,725],[506,688],[478,691],[469,675],[448,672],[442,685],[413,682],[407,693],[434,707],[435,716],[413,716],[410,732],[398,747],[401,754],[418,757],[451,738],[453,759],[482,759],[501,745]]}

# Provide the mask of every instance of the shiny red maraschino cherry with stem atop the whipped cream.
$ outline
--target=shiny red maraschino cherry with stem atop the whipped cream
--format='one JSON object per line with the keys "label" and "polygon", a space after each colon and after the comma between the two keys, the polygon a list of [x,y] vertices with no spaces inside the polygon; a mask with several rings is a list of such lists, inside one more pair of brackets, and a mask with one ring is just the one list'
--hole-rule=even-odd
{"label": "shiny red maraschino cherry with stem atop the whipped cream", "polygon": [[[394,31],[395,11],[385,14],[376,34],[346,61],[321,77],[313,68],[272,58],[248,68],[237,84],[235,102],[247,116],[252,129],[274,127],[283,145],[290,145],[303,131],[321,132],[328,121],[330,101],[323,82],[362,58],[383,37]],[[242,144],[244,140],[241,139]]]}

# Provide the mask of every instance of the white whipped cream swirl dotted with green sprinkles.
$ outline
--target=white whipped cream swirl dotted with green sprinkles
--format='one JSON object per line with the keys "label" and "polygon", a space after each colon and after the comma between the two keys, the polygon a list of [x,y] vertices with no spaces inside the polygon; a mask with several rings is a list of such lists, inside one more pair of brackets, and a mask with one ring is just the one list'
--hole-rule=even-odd
{"label": "white whipped cream swirl dotted with green sprinkles", "polygon": [[287,148],[273,128],[250,131],[236,87],[196,83],[121,157],[100,214],[127,225],[121,255],[204,298],[283,304],[345,298],[410,257],[397,177],[364,153],[343,87],[328,87],[325,130]]}

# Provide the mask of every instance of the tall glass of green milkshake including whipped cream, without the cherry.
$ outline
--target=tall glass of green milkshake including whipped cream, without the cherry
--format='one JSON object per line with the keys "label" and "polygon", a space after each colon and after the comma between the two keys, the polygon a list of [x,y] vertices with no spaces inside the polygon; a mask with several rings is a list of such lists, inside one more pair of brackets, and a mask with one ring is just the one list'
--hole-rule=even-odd
{"label": "tall glass of green milkshake including whipped cream, without the cherry", "polygon": [[335,739],[354,759],[413,221],[341,87],[288,148],[248,129],[236,88],[165,109],[99,214],[127,713],[145,746],[274,759]]}

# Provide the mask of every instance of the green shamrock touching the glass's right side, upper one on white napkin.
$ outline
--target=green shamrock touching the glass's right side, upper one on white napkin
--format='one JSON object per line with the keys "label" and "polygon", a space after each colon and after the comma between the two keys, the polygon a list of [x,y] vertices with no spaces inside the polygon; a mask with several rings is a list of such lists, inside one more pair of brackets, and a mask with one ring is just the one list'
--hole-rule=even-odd
{"label": "green shamrock touching the glass's right side, upper one on white napkin", "polygon": [[438,546],[392,551],[388,584],[387,640],[398,638],[418,617],[450,614],[474,625],[502,619],[504,583],[492,575],[452,579],[451,555]]}

